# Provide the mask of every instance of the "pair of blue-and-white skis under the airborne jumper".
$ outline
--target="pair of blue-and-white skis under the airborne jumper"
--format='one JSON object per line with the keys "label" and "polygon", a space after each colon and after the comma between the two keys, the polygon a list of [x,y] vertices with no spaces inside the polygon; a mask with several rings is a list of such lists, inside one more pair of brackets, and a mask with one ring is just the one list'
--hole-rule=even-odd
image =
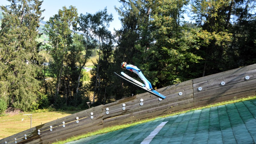
{"label": "pair of blue-and-white skis under the airborne jumper", "polygon": [[127,77],[128,79],[124,78],[123,76],[120,76],[119,74],[117,74],[116,72],[114,72],[117,76],[119,76],[120,78],[126,80],[127,82],[130,82],[132,83],[133,85],[139,87],[139,88],[142,88],[144,91],[147,91],[149,93],[151,93],[152,95],[155,95],[157,96],[158,98],[161,98],[161,99],[165,99],[165,96],[160,94],[159,92],[155,91],[155,90],[148,90],[147,88],[144,87],[144,84],[142,84],[141,82],[137,81],[136,79],[133,79],[132,77],[128,76],[127,74],[121,72],[121,74],[125,77]]}

